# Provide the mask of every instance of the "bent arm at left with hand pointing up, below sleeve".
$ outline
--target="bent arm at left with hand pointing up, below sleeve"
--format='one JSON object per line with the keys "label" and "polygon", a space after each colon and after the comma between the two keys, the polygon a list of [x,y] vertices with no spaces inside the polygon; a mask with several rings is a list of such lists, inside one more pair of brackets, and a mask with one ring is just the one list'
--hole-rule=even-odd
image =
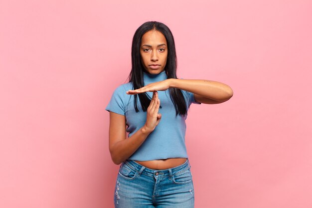
{"label": "bent arm at left with hand pointing up, below sleeve", "polygon": [[153,93],[150,106],[147,110],[145,125],[126,139],[126,117],[110,112],[109,150],[112,161],[119,165],[127,160],[145,141],[148,135],[158,125],[161,115],[158,113],[160,101],[157,93]]}

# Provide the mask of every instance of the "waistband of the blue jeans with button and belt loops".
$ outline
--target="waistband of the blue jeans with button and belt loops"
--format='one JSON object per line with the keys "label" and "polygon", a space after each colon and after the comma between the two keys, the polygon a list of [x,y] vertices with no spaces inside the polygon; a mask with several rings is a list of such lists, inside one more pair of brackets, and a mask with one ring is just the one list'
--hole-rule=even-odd
{"label": "waistband of the blue jeans with button and belt loops", "polygon": [[150,169],[150,168],[140,165],[139,163],[133,160],[126,160],[123,163],[127,164],[129,168],[131,168],[132,170],[137,171],[139,175],[141,174],[148,175],[148,176],[157,175],[159,177],[177,175],[179,173],[183,173],[184,171],[188,170],[191,167],[188,159],[186,159],[186,161],[182,165],[179,165],[173,168],[164,169],[164,170]]}

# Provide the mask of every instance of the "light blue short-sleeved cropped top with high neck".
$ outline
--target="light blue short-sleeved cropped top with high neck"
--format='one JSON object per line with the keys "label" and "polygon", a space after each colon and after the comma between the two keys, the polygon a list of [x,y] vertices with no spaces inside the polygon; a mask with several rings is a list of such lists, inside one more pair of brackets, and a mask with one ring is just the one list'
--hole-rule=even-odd
{"label": "light blue short-sleeved cropped top with high neck", "polygon": [[[144,84],[150,84],[167,79],[165,71],[159,74],[149,74],[144,72]],[[111,100],[105,110],[124,115],[126,117],[128,139],[142,128],[146,122],[147,112],[142,110],[138,97],[137,106],[139,112],[134,107],[134,95],[126,94],[126,91],[133,89],[131,82],[122,84],[114,91]],[[187,110],[191,103],[200,104],[195,101],[191,92],[181,90],[186,101]],[[152,98],[153,92],[147,92]],[[161,120],[155,130],[149,134],[142,145],[128,159],[135,161],[160,160],[167,158],[188,158],[185,147],[185,119],[187,115],[175,114],[174,104],[170,99],[169,90],[158,91],[160,106],[158,113]]]}

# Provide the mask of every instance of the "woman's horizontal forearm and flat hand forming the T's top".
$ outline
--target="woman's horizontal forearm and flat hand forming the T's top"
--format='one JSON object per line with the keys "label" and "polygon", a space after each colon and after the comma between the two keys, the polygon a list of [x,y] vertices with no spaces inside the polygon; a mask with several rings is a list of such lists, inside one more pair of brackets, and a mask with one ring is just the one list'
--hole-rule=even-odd
{"label": "woman's horizontal forearm and flat hand forming the T's top", "polygon": [[166,90],[175,87],[194,93],[197,102],[205,104],[222,103],[233,96],[233,90],[226,84],[210,80],[197,79],[166,79],[148,84],[137,90],[129,90],[127,94],[138,94],[154,90]]}

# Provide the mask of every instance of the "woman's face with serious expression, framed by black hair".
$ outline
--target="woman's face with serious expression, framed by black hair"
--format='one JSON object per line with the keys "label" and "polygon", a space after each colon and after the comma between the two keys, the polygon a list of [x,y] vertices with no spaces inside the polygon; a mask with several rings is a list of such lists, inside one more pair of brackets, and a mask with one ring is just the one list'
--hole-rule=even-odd
{"label": "woman's face with serious expression, framed by black hair", "polygon": [[142,36],[140,54],[144,68],[150,74],[162,72],[168,55],[167,41],[164,35],[157,30],[147,31]]}

